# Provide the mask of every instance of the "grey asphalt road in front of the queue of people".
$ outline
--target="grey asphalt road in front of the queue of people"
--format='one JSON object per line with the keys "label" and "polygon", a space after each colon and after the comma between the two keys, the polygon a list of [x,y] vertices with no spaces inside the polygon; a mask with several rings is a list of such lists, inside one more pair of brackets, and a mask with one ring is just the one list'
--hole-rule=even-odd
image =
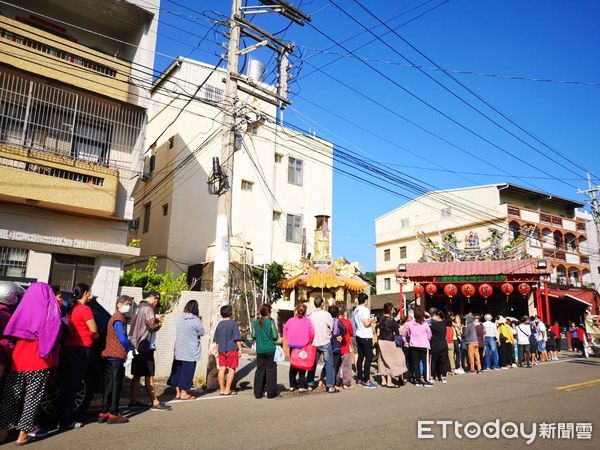
{"label": "grey asphalt road in front of the queue of people", "polygon": [[[247,360],[248,369],[252,360]],[[248,373],[248,370],[246,371]],[[247,377],[252,377],[248,373]],[[286,368],[279,382],[287,383]],[[241,383],[246,386],[247,383]],[[169,398],[169,394],[164,394]],[[338,394],[312,393],[267,400],[254,399],[250,389],[236,397],[215,394],[172,402],[172,411],[142,411],[125,425],[89,423],[84,428],[51,435],[31,448],[60,449],[254,449],[294,448],[600,448],[600,360],[566,359],[532,369],[511,369],[481,375],[450,377],[432,388],[407,385],[399,389],[356,387]],[[90,421],[94,419],[90,413]],[[499,430],[513,434],[507,422],[592,423],[592,439],[526,438],[469,439],[454,424],[442,438],[442,426],[432,426],[433,439],[417,438],[418,420],[453,420],[483,426],[499,419]],[[470,425],[468,431],[476,433]],[[558,427],[558,425],[557,425]],[[568,429],[568,426],[567,426]],[[494,433],[494,428],[487,432]],[[492,434],[493,435],[493,434]],[[7,444],[14,445],[14,444]]]}

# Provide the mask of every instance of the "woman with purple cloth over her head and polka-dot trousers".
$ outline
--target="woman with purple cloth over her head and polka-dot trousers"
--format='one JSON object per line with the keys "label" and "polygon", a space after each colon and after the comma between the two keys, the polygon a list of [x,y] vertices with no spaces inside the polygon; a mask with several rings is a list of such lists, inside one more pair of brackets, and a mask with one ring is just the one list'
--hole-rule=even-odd
{"label": "woman with purple cloth over her head and polka-dot trousers", "polygon": [[0,393],[0,443],[8,430],[19,431],[17,445],[28,442],[59,349],[60,307],[47,283],[33,283],[4,330],[14,338],[11,370]]}

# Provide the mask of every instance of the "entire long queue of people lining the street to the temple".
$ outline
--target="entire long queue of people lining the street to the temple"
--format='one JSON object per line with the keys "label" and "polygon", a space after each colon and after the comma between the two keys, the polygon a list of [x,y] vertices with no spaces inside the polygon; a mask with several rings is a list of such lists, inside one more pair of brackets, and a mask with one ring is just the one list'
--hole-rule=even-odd
{"label": "entire long queue of people lining the street to the temple", "polygon": [[[0,303],[0,442],[9,429],[18,431],[17,445],[43,435],[38,416],[49,380],[60,380],[58,428],[66,431],[84,424],[74,416],[75,397],[85,376],[98,326],[92,309],[90,287],[79,284],[68,303],[58,288],[33,283],[18,302],[12,297]],[[8,297],[7,297],[8,298]],[[157,314],[161,296],[150,292],[132,314],[133,299],[121,296],[108,322],[104,359],[104,394],[99,423],[124,424],[129,420],[120,412],[125,366],[131,364],[129,408],[146,407],[169,411],[155,389],[156,333],[164,316]],[[13,301],[14,300],[14,301]],[[430,387],[447,383],[448,374],[481,373],[514,367],[532,367],[537,361],[556,360],[558,324],[550,326],[538,317],[519,321],[486,314],[446,315],[416,306],[406,317],[398,317],[394,306],[386,303],[379,319],[369,309],[369,298],[362,293],[351,314],[333,304],[325,309],[322,298],[299,305],[283,326],[282,343],[271,307],[262,305],[250,325],[255,341],[256,371],[254,396],[276,398],[277,362],[290,357],[289,390],[301,393],[325,389],[338,393],[353,388],[353,363],[358,386],[375,389],[371,379],[374,348],[377,348],[380,386],[398,388],[406,382]],[[16,306],[16,307],[15,307]],[[212,341],[218,352],[218,384],[221,396],[236,395],[234,378],[239,366],[244,339],[230,305],[220,309]],[[347,315],[349,317],[347,317]],[[129,322],[129,330],[128,328]],[[579,349],[584,330],[574,325],[571,342]],[[199,305],[190,300],[177,318],[176,339],[168,385],[175,399],[193,400],[192,386],[196,364],[201,357],[201,339],[206,331],[199,317]],[[375,346],[376,342],[376,346]],[[356,359],[354,355],[356,354]],[[317,376],[317,367],[323,368]],[[139,401],[140,380],[150,404]],[[41,430],[41,431],[40,431]]]}

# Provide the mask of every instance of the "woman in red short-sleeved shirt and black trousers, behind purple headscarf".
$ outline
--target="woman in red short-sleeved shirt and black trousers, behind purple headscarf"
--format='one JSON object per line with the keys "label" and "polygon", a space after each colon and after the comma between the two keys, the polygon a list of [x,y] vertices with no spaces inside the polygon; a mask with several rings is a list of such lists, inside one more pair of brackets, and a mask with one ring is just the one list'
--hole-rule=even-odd
{"label": "woman in red short-sleeved shirt and black trousers, behind purple headscarf", "polygon": [[87,302],[91,297],[90,287],[80,283],[73,290],[71,310],[67,313],[69,334],[61,354],[62,388],[59,403],[59,426],[62,430],[81,428],[80,422],[73,421],[75,397],[81,380],[87,370],[90,351],[94,339],[98,337],[98,327]]}

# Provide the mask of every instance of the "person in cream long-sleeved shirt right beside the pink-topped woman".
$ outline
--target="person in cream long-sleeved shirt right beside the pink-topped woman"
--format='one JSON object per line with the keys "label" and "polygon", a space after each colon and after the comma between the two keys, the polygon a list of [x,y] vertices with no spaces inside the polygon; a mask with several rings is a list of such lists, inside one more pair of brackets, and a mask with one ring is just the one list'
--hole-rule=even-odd
{"label": "person in cream long-sleeved shirt right beside the pink-topped woman", "polygon": [[325,384],[327,392],[337,392],[335,389],[335,379],[333,370],[333,353],[331,351],[331,333],[333,331],[333,317],[327,311],[323,311],[323,299],[317,297],[315,299],[315,310],[308,316],[315,330],[315,337],[312,344],[317,347],[317,357],[315,365],[308,371],[308,385],[315,388],[315,372],[320,356],[323,355],[325,362]]}

